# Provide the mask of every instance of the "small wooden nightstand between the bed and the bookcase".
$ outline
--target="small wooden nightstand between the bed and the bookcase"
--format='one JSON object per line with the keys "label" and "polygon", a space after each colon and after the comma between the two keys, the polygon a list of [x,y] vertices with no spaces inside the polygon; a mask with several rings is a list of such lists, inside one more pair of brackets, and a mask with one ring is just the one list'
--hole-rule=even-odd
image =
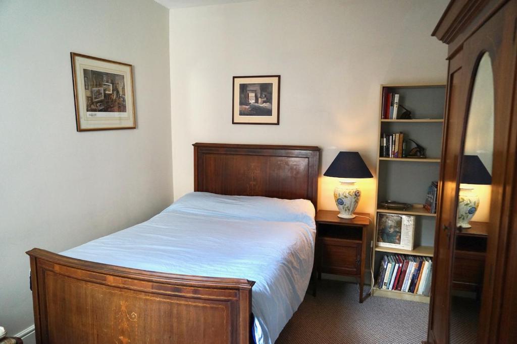
{"label": "small wooden nightstand between the bed and the bookcase", "polygon": [[339,211],[318,210],[316,214],[316,272],[353,276],[359,279],[359,302],[363,301],[370,214],[357,212],[354,219],[341,219]]}

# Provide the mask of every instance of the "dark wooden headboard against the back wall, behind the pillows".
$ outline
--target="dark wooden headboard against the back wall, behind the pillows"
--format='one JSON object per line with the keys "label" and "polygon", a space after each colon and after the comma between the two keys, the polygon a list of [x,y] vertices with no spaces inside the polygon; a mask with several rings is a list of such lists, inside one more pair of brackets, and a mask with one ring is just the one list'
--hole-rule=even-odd
{"label": "dark wooden headboard against the back wall, behind the pillows", "polygon": [[194,143],[194,191],[307,199],[317,206],[320,148]]}

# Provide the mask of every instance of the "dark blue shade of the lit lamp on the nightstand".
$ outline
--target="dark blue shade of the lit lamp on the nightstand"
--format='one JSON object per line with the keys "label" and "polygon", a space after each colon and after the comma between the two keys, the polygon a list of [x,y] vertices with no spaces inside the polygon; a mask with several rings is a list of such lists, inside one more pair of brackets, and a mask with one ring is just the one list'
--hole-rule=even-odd
{"label": "dark blue shade of the lit lamp on the nightstand", "polygon": [[323,175],[337,178],[373,178],[359,152],[339,152]]}

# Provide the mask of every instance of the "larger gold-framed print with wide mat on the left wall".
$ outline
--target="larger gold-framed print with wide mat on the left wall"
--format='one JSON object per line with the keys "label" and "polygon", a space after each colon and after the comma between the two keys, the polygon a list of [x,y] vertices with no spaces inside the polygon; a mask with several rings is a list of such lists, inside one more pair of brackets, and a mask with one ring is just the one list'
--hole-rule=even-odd
{"label": "larger gold-framed print with wide mat on the left wall", "polygon": [[77,131],[136,128],[132,65],[70,56]]}

